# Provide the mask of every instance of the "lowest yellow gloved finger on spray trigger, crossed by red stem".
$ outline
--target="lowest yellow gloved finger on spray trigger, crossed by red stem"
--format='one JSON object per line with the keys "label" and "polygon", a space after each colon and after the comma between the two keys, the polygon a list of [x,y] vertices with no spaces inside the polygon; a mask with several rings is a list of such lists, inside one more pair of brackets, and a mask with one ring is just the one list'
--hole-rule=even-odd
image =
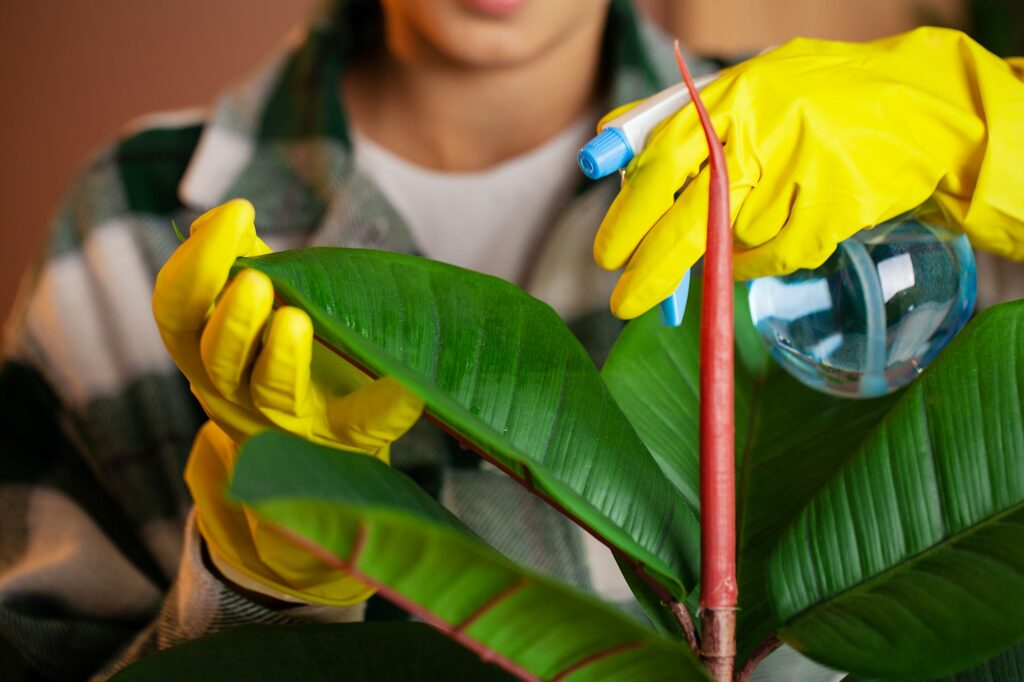
{"label": "lowest yellow gloved finger on spray trigger, crossed by red stem", "polygon": [[[729,156],[729,210],[734,219],[754,180]],[[703,254],[708,241],[708,190],[705,169],[637,248],[611,294],[611,311],[631,319],[657,305],[679,286],[685,271]]]}

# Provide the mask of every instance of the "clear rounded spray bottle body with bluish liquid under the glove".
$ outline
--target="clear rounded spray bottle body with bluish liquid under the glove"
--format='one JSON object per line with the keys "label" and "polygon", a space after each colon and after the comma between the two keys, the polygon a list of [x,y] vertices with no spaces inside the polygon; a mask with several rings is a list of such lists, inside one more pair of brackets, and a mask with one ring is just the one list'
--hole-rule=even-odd
{"label": "clear rounded spray bottle body with bluish liquid under the glove", "polygon": [[854,235],[820,267],[752,281],[750,305],[786,372],[866,398],[913,381],[967,324],[976,292],[967,237],[919,209]]}

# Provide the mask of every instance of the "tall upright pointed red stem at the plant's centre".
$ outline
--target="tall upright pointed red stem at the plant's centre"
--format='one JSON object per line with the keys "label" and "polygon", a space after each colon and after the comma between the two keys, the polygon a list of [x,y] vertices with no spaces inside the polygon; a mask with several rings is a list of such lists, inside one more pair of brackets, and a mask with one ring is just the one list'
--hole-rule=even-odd
{"label": "tall upright pointed red stem at the plant's centre", "polygon": [[[706,636],[702,653],[716,677],[728,675],[731,679],[738,590],[729,175],[722,142],[690,78],[679,41],[676,41],[676,61],[708,141],[711,173],[700,307],[700,605],[706,625],[716,617],[722,621],[715,628],[721,638]],[[725,621],[730,621],[732,627]],[[709,640],[720,640],[714,643],[716,650],[709,650]]]}

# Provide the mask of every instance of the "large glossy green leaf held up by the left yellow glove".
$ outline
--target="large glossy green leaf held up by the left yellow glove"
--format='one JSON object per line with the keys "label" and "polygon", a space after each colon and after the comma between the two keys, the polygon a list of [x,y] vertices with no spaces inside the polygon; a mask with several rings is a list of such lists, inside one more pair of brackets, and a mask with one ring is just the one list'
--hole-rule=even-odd
{"label": "large glossy green leaf held up by the left yellow glove", "polygon": [[319,339],[419,394],[444,427],[674,596],[698,528],[558,315],[501,280],[348,249],[240,259],[309,312]]}

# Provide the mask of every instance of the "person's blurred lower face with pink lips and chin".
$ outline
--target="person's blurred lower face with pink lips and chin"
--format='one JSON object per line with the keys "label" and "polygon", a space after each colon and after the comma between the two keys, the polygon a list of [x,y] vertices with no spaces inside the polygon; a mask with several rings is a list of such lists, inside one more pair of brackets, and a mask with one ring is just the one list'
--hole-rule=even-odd
{"label": "person's blurred lower face with pink lips and chin", "polygon": [[609,0],[381,0],[389,47],[496,69],[543,57],[604,20]]}

